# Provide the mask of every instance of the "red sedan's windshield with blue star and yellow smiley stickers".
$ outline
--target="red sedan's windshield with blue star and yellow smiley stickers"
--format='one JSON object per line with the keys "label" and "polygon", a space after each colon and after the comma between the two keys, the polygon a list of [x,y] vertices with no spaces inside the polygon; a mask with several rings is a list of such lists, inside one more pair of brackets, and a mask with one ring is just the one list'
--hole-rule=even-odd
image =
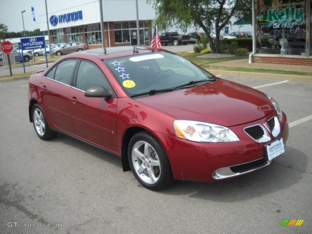
{"label": "red sedan's windshield with blue star and yellow smiley stickers", "polygon": [[188,88],[204,84],[206,80],[212,82],[213,78],[207,71],[169,51],[119,57],[104,63],[129,96]]}

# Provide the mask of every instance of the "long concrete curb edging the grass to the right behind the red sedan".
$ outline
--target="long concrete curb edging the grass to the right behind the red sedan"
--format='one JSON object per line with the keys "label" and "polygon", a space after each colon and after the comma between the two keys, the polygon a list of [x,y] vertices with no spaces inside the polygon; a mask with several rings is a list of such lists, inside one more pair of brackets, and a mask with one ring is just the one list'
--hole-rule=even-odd
{"label": "long concrete curb edging the grass to the right behind the red sedan", "polygon": [[295,75],[246,72],[246,71],[225,71],[225,70],[210,70],[210,69],[207,69],[207,70],[214,75],[227,75],[227,76],[241,76],[241,77],[246,77],[246,78],[264,78],[264,79],[273,79],[273,80],[292,80],[292,81],[312,82],[312,78],[310,76],[295,76]]}

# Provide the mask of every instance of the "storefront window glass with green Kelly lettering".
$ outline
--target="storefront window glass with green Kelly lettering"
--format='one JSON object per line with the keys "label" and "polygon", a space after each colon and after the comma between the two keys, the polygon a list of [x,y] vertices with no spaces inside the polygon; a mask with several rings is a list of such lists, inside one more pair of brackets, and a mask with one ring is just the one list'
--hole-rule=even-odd
{"label": "storefront window glass with green Kelly lettering", "polygon": [[306,0],[258,0],[256,51],[261,54],[304,55]]}

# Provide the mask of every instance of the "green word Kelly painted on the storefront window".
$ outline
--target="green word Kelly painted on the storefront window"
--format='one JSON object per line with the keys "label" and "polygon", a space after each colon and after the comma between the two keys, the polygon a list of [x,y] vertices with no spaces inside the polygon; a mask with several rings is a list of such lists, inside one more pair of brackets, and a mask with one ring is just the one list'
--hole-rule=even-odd
{"label": "green word Kelly painted on the storefront window", "polygon": [[283,21],[283,20],[296,20],[296,24],[302,24],[305,20],[303,8],[296,9],[293,7],[285,7],[284,10],[279,11],[278,9],[268,10],[268,21]]}

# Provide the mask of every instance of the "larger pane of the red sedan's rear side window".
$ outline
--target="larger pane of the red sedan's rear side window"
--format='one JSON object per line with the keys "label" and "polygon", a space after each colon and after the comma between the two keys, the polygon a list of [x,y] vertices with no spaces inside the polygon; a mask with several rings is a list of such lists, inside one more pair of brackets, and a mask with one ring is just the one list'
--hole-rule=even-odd
{"label": "larger pane of the red sedan's rear side window", "polygon": [[60,81],[66,85],[71,84],[71,77],[74,72],[76,60],[65,60],[57,65],[54,80]]}

